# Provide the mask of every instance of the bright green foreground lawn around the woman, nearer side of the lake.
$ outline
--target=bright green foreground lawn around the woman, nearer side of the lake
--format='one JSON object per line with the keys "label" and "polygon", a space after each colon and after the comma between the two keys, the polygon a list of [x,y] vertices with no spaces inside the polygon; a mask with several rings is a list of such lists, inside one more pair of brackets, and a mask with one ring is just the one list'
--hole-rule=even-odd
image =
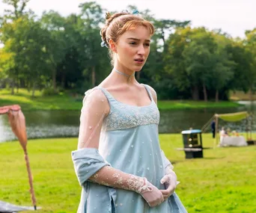
{"label": "bright green foreground lawn around the woman, nearer side of the lake", "polygon": [[[205,149],[204,158],[185,159],[184,152],[175,149],[183,146],[180,134],[159,138],[165,155],[174,164],[180,181],[176,192],[189,213],[256,212],[256,146]],[[81,188],[70,157],[76,143],[77,138],[28,141],[37,206],[42,207],[38,213],[76,212]],[[203,143],[213,146],[210,134],[203,135]],[[0,199],[30,206],[19,143],[0,143],[0,161]]]}

